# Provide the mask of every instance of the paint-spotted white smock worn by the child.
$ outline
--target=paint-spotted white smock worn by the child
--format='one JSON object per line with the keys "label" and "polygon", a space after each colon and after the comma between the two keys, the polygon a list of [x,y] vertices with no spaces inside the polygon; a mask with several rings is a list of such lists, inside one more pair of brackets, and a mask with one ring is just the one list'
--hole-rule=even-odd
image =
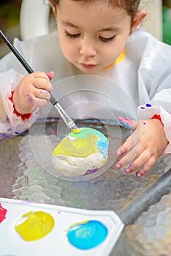
{"label": "paint-spotted white smock worn by the child", "polygon": [[[34,71],[55,72],[52,94],[72,118],[117,121],[118,116],[138,120],[159,114],[171,142],[170,45],[137,29],[127,40],[123,59],[96,75],[84,75],[64,58],[57,32],[24,42],[15,39],[14,45]],[[0,140],[23,132],[38,116],[58,116],[50,103],[25,121],[13,114],[8,97],[26,74],[13,53],[1,59]]]}

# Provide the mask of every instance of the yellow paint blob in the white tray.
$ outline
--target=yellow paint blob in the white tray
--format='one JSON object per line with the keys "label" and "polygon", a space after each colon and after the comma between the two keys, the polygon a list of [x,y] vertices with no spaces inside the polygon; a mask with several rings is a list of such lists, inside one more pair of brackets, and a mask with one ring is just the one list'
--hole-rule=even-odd
{"label": "yellow paint blob in the white tray", "polygon": [[36,241],[53,230],[53,217],[43,211],[28,211],[22,217],[27,217],[27,219],[23,223],[15,225],[15,230],[24,241]]}

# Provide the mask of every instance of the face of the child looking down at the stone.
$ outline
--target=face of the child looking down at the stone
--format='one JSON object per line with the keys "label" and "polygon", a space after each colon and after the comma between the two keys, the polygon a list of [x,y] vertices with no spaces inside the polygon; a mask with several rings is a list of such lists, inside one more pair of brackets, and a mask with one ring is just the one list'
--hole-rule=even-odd
{"label": "face of the child looking down at the stone", "polygon": [[131,17],[125,10],[103,1],[85,5],[61,0],[56,20],[64,56],[88,74],[96,74],[118,58],[131,27]]}

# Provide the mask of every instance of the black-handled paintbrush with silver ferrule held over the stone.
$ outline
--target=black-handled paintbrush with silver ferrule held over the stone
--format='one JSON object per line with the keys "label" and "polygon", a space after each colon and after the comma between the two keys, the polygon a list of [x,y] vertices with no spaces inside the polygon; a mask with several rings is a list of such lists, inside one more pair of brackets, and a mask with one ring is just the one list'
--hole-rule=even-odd
{"label": "black-handled paintbrush with silver ferrule held over the stone", "polygon": [[[20,61],[20,63],[23,65],[23,67],[26,69],[28,74],[31,74],[34,72],[33,69],[28,65],[25,59],[23,59],[23,56],[20,55],[18,50],[15,48],[14,45],[12,45],[11,42],[9,42],[9,39],[4,35],[4,33],[0,29],[0,35],[1,38],[4,40],[4,42],[7,44],[9,49],[14,53],[14,55],[17,57],[17,59]],[[69,129],[77,129],[77,126],[75,122],[68,116],[68,114],[65,112],[65,110],[61,107],[61,105],[58,104],[58,101],[53,97],[53,95],[50,93],[50,103],[52,103],[53,107],[56,108],[58,113],[60,114],[61,118],[64,120],[66,126]]]}

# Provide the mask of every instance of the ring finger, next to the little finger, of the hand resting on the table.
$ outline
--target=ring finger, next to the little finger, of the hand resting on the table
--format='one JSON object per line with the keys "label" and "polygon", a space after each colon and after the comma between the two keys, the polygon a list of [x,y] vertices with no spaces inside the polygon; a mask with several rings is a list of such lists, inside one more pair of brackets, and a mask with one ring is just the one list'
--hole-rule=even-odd
{"label": "ring finger, next to the little finger, of the hand resting on the table", "polygon": [[151,159],[151,156],[152,154],[148,149],[145,151],[139,151],[137,156],[134,158],[134,162],[126,168],[125,173],[132,173],[134,170],[140,169],[144,166],[144,163]]}

